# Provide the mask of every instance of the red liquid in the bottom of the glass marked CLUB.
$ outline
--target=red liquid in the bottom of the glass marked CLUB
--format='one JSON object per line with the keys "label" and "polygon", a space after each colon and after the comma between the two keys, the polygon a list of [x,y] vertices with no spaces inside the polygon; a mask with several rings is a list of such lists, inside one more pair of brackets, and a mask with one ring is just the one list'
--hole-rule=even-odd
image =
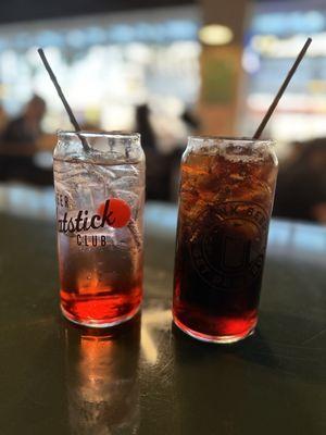
{"label": "red liquid in the bottom of the glass marked CLUB", "polygon": [[[101,238],[101,235],[97,235]],[[73,245],[74,240],[68,240]],[[64,249],[64,248],[63,248]],[[121,323],[139,309],[142,298],[142,256],[129,247],[60,247],[61,308],[68,319],[93,325]],[[93,251],[93,252],[91,252]],[[112,273],[108,272],[109,268]]]}

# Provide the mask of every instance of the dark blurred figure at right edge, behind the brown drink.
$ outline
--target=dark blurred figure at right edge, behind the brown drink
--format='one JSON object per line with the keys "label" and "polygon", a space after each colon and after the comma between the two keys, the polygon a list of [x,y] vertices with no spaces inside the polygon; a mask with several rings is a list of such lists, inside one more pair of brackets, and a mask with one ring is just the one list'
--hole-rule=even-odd
{"label": "dark blurred figure at right edge, behind the brown drink", "polygon": [[274,215],[326,223],[326,138],[296,147],[278,175]]}

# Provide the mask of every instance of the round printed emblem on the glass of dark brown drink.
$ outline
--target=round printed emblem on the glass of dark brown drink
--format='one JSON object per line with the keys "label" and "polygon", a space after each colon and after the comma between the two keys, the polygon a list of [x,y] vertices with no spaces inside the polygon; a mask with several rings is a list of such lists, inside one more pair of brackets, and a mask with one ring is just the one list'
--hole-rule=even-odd
{"label": "round printed emblem on the glass of dark brown drink", "polygon": [[190,243],[201,278],[220,290],[238,290],[261,277],[268,214],[256,203],[224,202],[208,209],[204,228]]}

